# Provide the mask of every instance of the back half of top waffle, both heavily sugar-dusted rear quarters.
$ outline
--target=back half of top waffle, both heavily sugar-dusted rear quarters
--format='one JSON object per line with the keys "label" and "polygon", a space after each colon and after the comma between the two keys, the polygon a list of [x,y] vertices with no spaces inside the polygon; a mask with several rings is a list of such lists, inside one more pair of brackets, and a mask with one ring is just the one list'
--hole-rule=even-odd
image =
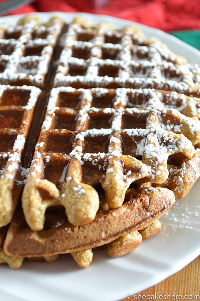
{"label": "back half of top waffle, both heavily sugar-dusted rear quarters", "polygon": [[[76,18],[47,24],[34,16],[0,28],[0,83],[43,87],[53,50],[54,87],[157,88],[199,93],[199,66],[174,55],[134,26],[115,30]],[[57,61],[58,59],[58,61]],[[189,89],[191,87],[191,89]]]}

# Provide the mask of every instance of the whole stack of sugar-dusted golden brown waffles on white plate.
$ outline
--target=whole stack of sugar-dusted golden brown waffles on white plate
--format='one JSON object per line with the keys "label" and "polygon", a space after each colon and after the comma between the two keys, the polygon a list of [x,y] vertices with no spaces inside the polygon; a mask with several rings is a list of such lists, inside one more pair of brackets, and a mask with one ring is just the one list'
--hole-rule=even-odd
{"label": "whole stack of sugar-dusted golden brown waffles on white plate", "polygon": [[200,67],[82,18],[0,37],[0,263],[135,250],[200,175]]}

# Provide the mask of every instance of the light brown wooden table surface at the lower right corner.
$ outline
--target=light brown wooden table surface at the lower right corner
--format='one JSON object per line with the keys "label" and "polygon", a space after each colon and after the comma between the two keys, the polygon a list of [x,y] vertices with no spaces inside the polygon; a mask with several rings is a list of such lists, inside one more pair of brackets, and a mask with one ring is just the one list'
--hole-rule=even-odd
{"label": "light brown wooden table surface at the lower right corner", "polygon": [[[140,292],[139,295],[149,295],[151,297],[153,295],[153,298],[150,299],[148,297],[148,299],[154,301],[159,300],[159,297],[155,298],[155,296],[163,296],[163,300],[172,300],[173,295],[182,295],[182,298],[178,298],[177,296],[175,299],[175,297],[173,297],[174,300],[184,300],[184,298],[185,300],[200,300],[198,296],[193,297],[194,295],[200,295],[200,256],[198,256],[195,260],[190,262],[186,267],[176,274],[173,274],[151,288],[145,289],[144,291]],[[164,295],[166,295],[166,298],[164,298]],[[128,298],[120,301],[148,299],[140,296],[138,298],[138,294],[136,294],[132,297],[131,295],[128,295]],[[162,297],[160,297],[160,300],[161,299]]]}

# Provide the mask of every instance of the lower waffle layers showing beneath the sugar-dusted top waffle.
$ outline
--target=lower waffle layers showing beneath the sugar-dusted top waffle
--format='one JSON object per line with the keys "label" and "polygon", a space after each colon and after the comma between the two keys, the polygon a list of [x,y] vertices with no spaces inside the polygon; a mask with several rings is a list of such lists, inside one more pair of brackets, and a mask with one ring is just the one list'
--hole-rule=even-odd
{"label": "lower waffle layers showing beneath the sugar-dusted top waffle", "polygon": [[169,178],[164,187],[133,184],[123,205],[116,209],[108,207],[103,189],[98,189],[100,207],[96,218],[86,225],[70,224],[64,209],[54,207],[46,211],[44,229],[33,231],[18,208],[10,226],[0,229],[0,264],[8,263],[16,269],[25,257],[52,262],[59,254],[71,253],[78,266],[85,268],[92,261],[93,248],[107,247],[112,257],[134,251],[142,240],[161,230],[158,219],[184,197],[200,175],[199,150],[190,160],[180,157],[174,162],[176,165],[168,165]]}

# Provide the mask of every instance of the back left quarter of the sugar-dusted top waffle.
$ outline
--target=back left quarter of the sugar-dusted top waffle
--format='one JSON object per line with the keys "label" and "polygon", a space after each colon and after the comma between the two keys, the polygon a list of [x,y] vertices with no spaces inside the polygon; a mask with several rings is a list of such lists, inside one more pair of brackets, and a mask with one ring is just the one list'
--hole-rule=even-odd
{"label": "back left quarter of the sugar-dusted top waffle", "polygon": [[0,27],[0,83],[43,87],[63,21],[52,18],[41,25],[35,16],[16,26]]}

